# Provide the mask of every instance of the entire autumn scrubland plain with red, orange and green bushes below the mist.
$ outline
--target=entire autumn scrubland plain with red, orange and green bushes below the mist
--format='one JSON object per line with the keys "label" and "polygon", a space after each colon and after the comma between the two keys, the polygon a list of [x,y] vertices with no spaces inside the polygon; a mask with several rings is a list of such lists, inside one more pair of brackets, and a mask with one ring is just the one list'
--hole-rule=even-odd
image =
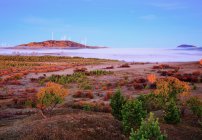
{"label": "entire autumn scrubland plain with red, orange and green bushes below the mist", "polygon": [[201,61],[0,56],[0,139],[200,140]]}

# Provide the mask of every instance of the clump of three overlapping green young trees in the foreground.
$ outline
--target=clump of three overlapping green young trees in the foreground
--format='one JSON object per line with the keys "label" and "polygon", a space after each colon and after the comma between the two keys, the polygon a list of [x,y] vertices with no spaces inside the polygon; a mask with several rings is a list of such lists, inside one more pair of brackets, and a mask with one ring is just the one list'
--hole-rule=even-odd
{"label": "clump of three overlapping green young trees in the foreground", "polygon": [[[120,90],[117,90],[111,98],[110,105],[112,115],[122,122],[124,133],[131,132],[130,140],[166,138],[166,135],[161,133],[158,120],[153,117],[153,114],[145,120],[147,109],[141,100],[126,100]],[[134,132],[134,129],[137,131]]]}

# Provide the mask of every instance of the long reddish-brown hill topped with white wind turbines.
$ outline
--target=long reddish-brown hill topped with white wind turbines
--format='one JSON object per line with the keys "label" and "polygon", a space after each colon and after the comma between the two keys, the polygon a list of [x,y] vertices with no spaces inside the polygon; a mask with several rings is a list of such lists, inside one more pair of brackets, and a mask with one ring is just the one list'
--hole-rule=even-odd
{"label": "long reddish-brown hill topped with white wind turbines", "polygon": [[47,40],[43,42],[31,42],[27,44],[21,44],[15,48],[70,48],[70,49],[97,49],[97,48],[106,48],[106,47],[97,47],[97,46],[86,46],[73,41],[61,41],[61,40]]}

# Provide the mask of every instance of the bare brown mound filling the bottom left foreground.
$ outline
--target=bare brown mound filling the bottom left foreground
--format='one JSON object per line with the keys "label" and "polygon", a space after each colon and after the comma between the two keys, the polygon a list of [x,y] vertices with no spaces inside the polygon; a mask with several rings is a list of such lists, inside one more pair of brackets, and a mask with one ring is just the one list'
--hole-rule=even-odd
{"label": "bare brown mound filling the bottom left foreground", "polygon": [[[65,115],[59,115],[59,114]],[[57,114],[57,115],[56,115]],[[109,113],[63,110],[40,119],[31,116],[18,125],[0,128],[2,140],[124,140],[121,124]],[[33,118],[32,118],[33,117]],[[32,120],[33,119],[33,120]],[[35,119],[35,120],[34,120]]]}

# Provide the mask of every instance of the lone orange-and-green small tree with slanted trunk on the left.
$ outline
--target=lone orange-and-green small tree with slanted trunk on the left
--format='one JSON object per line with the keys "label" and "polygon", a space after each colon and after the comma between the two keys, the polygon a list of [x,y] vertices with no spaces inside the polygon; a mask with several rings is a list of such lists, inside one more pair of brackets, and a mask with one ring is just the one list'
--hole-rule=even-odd
{"label": "lone orange-and-green small tree with slanted trunk on the left", "polygon": [[59,84],[49,82],[45,87],[41,88],[36,94],[36,102],[42,116],[46,118],[44,113],[51,113],[57,104],[64,101],[65,96],[67,96],[67,90]]}

